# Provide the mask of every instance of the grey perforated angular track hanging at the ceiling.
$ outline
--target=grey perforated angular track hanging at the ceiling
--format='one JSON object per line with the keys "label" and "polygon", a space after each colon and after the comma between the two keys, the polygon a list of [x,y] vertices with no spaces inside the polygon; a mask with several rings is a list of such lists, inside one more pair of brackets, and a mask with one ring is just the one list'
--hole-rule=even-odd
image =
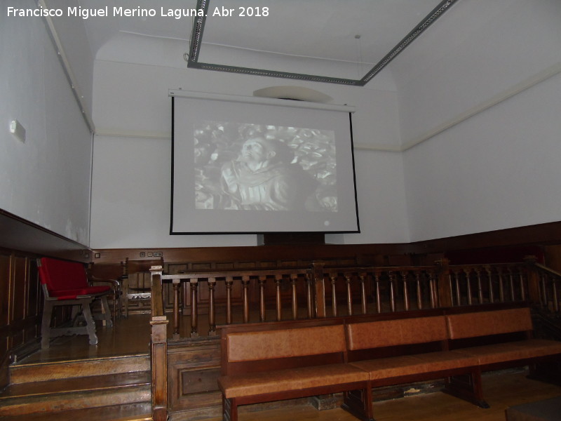
{"label": "grey perforated angular track hanging at the ceiling", "polygon": [[203,10],[201,16],[198,16],[193,22],[193,29],[191,32],[191,45],[189,46],[189,59],[187,60],[187,67],[192,69],[215,70],[217,72],[230,72],[238,74],[249,74],[253,76],[270,76],[282,79],[296,79],[300,81],[314,81],[326,83],[338,83],[348,86],[365,86],[374,76],[376,76],[381,69],[384,69],[391,60],[397,57],[407,46],[409,46],[414,39],[431,26],[438,18],[440,18],[445,11],[450,10],[453,4],[459,0],[443,0],[436,6],[431,13],[428,13],[424,19],[412,29],[395,47],[389,51],[384,58],[377,62],[367,74],[361,79],[344,79],[330,76],[320,76],[316,74],[302,74],[279,72],[274,69],[256,69],[252,67],[240,67],[230,65],[218,65],[213,63],[199,62],[198,57],[201,53],[203,46],[203,32],[205,29],[206,17],[210,7],[211,0],[197,0],[197,10]]}

